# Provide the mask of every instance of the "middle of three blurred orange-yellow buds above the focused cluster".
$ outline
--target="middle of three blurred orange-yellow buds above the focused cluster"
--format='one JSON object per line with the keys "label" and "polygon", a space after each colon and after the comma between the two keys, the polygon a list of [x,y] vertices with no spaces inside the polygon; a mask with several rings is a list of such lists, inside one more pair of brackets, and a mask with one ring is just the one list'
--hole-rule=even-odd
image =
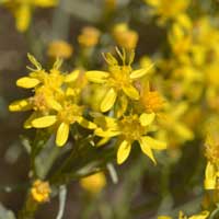
{"label": "middle of three blurred orange-yellow buds above the focused cluster", "polygon": [[100,31],[93,26],[85,26],[78,36],[78,42],[82,47],[93,47],[99,43]]}

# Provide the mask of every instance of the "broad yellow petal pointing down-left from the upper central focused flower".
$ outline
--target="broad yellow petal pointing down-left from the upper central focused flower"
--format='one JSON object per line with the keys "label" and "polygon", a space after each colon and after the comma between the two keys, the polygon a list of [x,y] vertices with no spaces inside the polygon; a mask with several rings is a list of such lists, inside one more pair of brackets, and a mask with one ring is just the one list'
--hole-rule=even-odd
{"label": "broad yellow petal pointing down-left from the upper central focused flower", "polygon": [[110,89],[105,94],[103,101],[101,102],[101,111],[102,112],[110,111],[115,104],[116,97],[117,97],[116,91],[114,89]]}

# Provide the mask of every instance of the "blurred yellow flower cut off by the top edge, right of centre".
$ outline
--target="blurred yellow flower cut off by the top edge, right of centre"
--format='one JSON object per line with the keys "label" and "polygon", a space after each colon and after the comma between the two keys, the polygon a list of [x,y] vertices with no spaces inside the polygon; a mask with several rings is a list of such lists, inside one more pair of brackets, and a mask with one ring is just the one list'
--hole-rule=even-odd
{"label": "blurred yellow flower cut off by the top edge, right of centre", "polygon": [[151,7],[151,13],[160,16],[163,24],[168,20],[175,20],[183,14],[189,5],[189,0],[145,0]]}

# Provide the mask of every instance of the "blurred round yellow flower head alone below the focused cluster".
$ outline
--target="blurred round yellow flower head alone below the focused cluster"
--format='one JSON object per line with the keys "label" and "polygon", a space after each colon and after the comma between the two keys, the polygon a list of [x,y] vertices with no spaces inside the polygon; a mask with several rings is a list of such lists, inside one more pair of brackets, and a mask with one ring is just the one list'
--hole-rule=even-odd
{"label": "blurred round yellow flower head alone below the focused cluster", "polygon": [[103,172],[94,173],[80,180],[80,185],[83,189],[91,194],[100,193],[106,185],[106,177]]}

